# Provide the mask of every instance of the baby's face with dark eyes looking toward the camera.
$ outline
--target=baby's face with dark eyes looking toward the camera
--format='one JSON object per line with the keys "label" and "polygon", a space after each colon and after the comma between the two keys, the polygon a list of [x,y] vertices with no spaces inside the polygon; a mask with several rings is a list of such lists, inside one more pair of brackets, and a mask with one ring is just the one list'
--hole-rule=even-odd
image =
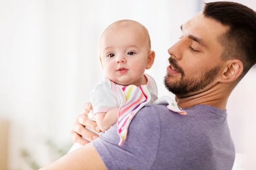
{"label": "baby's face with dark eyes looking toward the camera", "polygon": [[119,85],[136,85],[142,80],[150,52],[142,30],[131,27],[110,29],[102,35],[100,51],[108,79]]}

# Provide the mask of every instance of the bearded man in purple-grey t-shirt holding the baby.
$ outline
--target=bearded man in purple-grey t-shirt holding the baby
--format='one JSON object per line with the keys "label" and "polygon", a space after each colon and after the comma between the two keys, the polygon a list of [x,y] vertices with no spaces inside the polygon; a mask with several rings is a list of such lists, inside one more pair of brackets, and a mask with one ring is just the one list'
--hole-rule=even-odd
{"label": "bearded man in purple-grey t-shirt holding the baby", "polygon": [[[235,150],[225,109],[230,93],[256,64],[256,14],[238,3],[207,3],[181,30],[180,40],[168,49],[164,82],[188,115],[146,105],[121,147],[114,125],[44,170],[231,170]],[[85,144],[79,135],[93,139],[96,134],[81,124],[97,128],[85,115],[78,118],[72,136]]]}

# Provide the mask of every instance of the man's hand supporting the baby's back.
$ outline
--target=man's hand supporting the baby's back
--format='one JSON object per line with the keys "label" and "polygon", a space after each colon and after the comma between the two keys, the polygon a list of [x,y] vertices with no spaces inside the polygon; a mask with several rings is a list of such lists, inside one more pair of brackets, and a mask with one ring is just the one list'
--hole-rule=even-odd
{"label": "man's hand supporting the baby's back", "polygon": [[88,118],[88,113],[92,109],[93,109],[93,107],[92,107],[91,103],[86,103],[84,105],[84,113],[82,113],[80,116],[77,117],[76,122],[73,125],[72,131],[71,131],[71,140],[73,143],[79,143],[81,145],[90,143],[86,139],[83,139],[81,136],[84,136],[90,140],[94,140],[99,137],[99,135],[84,128],[85,126],[87,126],[91,129],[95,130],[96,132],[101,132],[101,130],[97,126],[96,122],[94,122]]}

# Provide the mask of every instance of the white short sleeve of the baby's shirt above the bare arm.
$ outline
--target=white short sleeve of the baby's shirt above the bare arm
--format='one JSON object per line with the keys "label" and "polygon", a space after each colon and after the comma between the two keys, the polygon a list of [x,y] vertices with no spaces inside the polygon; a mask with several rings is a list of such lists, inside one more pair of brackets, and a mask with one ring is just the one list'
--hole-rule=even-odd
{"label": "white short sleeve of the baby's shirt above the bare arm", "polygon": [[90,101],[93,106],[93,114],[108,112],[112,108],[118,107],[117,94],[106,83],[96,85],[90,94]]}

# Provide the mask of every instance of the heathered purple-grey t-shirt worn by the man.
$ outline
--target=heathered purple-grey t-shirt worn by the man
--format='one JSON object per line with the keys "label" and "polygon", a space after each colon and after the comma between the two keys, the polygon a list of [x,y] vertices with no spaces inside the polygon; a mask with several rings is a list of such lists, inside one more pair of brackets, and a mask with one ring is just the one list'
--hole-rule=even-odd
{"label": "heathered purple-grey t-shirt worn by the man", "polygon": [[184,110],[187,116],[146,105],[121,147],[116,125],[93,145],[108,170],[231,170],[235,149],[226,111],[209,105]]}

